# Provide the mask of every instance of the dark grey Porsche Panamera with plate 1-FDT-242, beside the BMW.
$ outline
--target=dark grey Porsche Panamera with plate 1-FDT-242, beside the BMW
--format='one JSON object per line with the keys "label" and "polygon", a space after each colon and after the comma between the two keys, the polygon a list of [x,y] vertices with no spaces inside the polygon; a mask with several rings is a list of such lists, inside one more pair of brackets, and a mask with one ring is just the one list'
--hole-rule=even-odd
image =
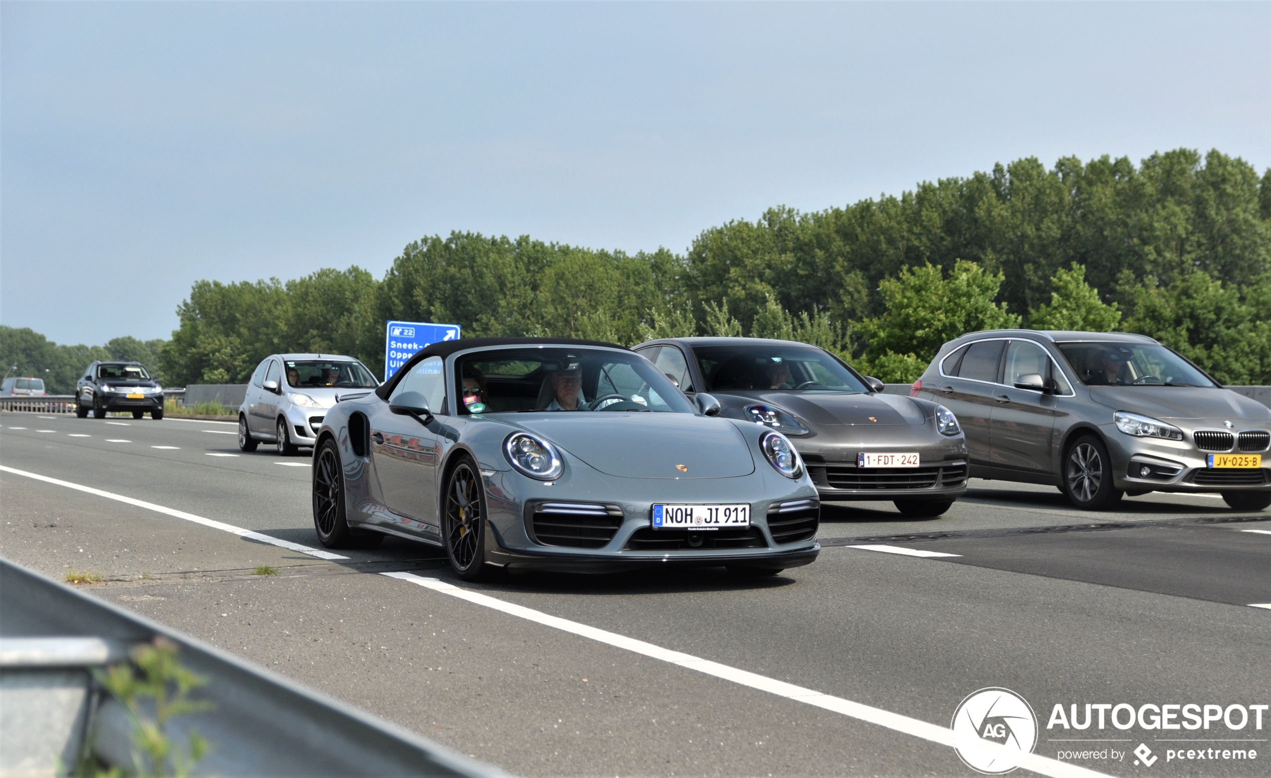
{"label": "dark grey Porsche Panamera with plate 1-FDT-242, beside the BMW", "polygon": [[966,493],[956,416],[882,394],[877,379],[815,346],[763,338],[669,338],[634,347],[686,395],[710,393],[721,416],[783,432],[821,500],[890,500],[939,516]]}

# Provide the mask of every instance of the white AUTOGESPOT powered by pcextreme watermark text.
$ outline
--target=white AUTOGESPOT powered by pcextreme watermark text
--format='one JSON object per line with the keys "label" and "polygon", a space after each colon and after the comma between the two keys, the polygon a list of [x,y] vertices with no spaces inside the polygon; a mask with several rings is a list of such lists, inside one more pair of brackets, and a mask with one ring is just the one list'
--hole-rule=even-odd
{"label": "white AUTOGESPOT powered by pcextreme watermark text", "polygon": [[1046,722],[1046,742],[1063,761],[1125,761],[1129,744],[1139,740],[1129,753],[1136,767],[1150,768],[1162,758],[1164,764],[1186,761],[1191,767],[1256,763],[1265,758],[1263,713],[1268,708],[1239,703],[1055,703]]}

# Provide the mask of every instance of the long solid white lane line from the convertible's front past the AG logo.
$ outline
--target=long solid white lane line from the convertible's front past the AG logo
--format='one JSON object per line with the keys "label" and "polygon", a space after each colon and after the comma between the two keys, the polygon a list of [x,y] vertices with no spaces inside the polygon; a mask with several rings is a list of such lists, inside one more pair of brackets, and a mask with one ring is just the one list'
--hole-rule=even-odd
{"label": "long solid white lane line from the convertible's front past the AG logo", "polygon": [[[690,653],[680,653],[679,651],[671,651],[670,648],[662,648],[661,646],[655,646],[653,643],[646,643],[644,641],[637,641],[629,638],[624,634],[618,634],[615,632],[608,632],[605,629],[597,629],[595,627],[588,627],[587,624],[580,624],[578,622],[571,622],[569,619],[562,619],[559,617],[549,615],[541,610],[534,610],[531,608],[525,608],[522,605],[515,605],[492,597],[489,595],[478,594],[475,591],[469,591],[466,589],[459,589],[445,581],[437,578],[426,578],[423,576],[417,576],[408,572],[386,572],[380,573],[381,576],[388,576],[390,578],[400,578],[425,589],[431,589],[441,594],[450,595],[452,597],[459,597],[460,600],[466,600],[474,605],[483,605],[508,615],[515,615],[544,627],[552,627],[554,629],[561,629],[571,634],[577,634],[600,643],[606,643],[616,648],[624,648],[627,651],[633,651],[643,656],[662,660],[663,662],[670,662],[672,665],[679,665],[688,670],[697,670],[698,672],[705,672],[707,675],[713,675],[723,680],[733,681],[735,684],[741,684],[742,686],[750,686],[751,689],[759,689],[760,692],[768,692],[770,694],[777,694],[778,697],[784,697],[794,702],[801,702],[808,706],[815,706],[817,708],[824,708],[826,711],[833,711],[835,713],[841,713],[852,718],[874,723],[888,730],[895,730],[905,735],[913,735],[914,737],[921,737],[923,740],[929,740],[932,742],[953,746],[953,731],[944,727],[928,723],[925,721],[919,721],[916,718],[910,718],[907,716],[901,716],[899,713],[892,713],[891,711],[883,711],[882,708],[874,708],[872,706],[864,706],[850,699],[844,699],[841,697],[831,697],[829,694],[822,694],[813,689],[807,689],[803,686],[796,686],[794,684],[787,684],[785,681],[779,681],[771,678],[758,675],[746,670],[740,670],[737,667],[730,667],[728,665],[721,665],[719,662],[712,662],[710,660],[704,660]],[[1064,761],[1057,761],[1055,759],[1049,759],[1038,754],[1030,754],[1024,758],[1024,761],[1019,765],[1027,770],[1035,773],[1041,773],[1042,775],[1051,775],[1051,778],[1079,778],[1091,775],[1102,775],[1102,773],[1096,773],[1094,770],[1088,770],[1074,764],[1068,764]]]}

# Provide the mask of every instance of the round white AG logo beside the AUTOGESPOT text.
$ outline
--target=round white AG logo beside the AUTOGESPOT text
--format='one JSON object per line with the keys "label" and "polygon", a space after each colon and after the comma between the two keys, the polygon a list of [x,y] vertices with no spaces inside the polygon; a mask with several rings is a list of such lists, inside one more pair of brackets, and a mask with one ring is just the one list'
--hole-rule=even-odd
{"label": "round white AG logo beside the AUTOGESPOT text", "polygon": [[953,712],[953,747],[972,770],[989,775],[1009,773],[1036,745],[1037,716],[1010,689],[980,689]]}

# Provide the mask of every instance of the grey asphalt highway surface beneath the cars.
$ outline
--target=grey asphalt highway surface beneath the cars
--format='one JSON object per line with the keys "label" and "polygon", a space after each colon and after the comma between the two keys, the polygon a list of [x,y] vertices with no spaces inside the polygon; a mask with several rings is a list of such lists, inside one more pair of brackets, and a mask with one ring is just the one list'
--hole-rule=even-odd
{"label": "grey asphalt highway surface beneath the cars", "polygon": [[[1249,708],[1271,703],[1271,512],[1146,495],[1087,514],[972,482],[932,520],[826,505],[820,559],[760,582],[473,585],[398,539],[322,558],[308,456],[243,454],[234,432],[0,414],[0,554],[95,571],[95,596],[519,774],[974,775],[923,727],[986,686],[1031,703],[1045,774],[1271,774],[1271,712]],[[1047,726],[1085,703],[1238,704],[1248,722]],[[1166,758],[1215,745],[1257,758]]]}

